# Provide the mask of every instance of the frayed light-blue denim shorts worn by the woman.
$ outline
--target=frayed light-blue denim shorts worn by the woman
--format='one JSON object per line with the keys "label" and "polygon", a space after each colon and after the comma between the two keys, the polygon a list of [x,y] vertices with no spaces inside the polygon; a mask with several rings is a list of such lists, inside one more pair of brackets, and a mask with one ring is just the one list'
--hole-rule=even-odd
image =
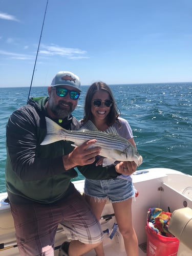
{"label": "frayed light-blue denim shorts worn by the woman", "polygon": [[116,203],[135,197],[135,187],[132,181],[120,178],[110,180],[86,179],[84,194],[98,201],[108,199],[110,202]]}

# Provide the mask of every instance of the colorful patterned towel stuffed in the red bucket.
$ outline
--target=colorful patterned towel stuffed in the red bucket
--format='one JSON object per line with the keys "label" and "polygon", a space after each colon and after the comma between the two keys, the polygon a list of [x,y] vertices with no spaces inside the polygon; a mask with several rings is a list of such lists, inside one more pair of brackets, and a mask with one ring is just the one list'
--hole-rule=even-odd
{"label": "colorful patterned towel stuffed in the red bucket", "polygon": [[168,231],[168,224],[172,213],[165,212],[160,208],[150,208],[147,212],[148,227],[150,227],[156,233],[165,237],[174,237]]}

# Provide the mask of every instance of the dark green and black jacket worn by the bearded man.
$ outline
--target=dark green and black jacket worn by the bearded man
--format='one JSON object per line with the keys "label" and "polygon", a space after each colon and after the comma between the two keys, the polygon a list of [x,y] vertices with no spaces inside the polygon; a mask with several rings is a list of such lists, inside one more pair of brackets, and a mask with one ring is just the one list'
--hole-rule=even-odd
{"label": "dark green and black jacket worn by the bearded man", "polygon": [[[71,141],[40,145],[47,133],[47,101],[48,97],[30,99],[8,120],[6,187],[12,203],[54,203],[65,197],[71,179],[78,175],[74,168],[66,171],[62,163],[62,156],[74,149]],[[67,130],[80,128],[80,122],[72,116],[59,125]],[[94,163],[89,168],[78,168],[89,179],[109,179],[118,175],[113,165],[102,168]]]}

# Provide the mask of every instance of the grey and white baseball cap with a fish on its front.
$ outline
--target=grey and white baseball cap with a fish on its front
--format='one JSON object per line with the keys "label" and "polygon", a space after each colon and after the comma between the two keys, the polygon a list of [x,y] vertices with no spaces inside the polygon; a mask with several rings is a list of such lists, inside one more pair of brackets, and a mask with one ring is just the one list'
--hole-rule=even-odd
{"label": "grey and white baseball cap with a fish on its front", "polygon": [[80,80],[79,77],[73,74],[70,71],[59,71],[56,76],[53,78],[51,87],[55,86],[70,86],[77,89],[79,92],[80,90]]}

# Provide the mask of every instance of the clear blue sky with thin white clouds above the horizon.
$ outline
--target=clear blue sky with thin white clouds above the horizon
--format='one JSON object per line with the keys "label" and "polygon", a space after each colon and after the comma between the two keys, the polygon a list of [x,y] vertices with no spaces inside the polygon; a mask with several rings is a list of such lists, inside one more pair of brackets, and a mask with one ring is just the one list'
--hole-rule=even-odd
{"label": "clear blue sky with thin white clouds above the horizon", "polygon": [[[28,87],[47,0],[0,0],[0,87]],[[33,86],[191,82],[191,0],[49,0]]]}

